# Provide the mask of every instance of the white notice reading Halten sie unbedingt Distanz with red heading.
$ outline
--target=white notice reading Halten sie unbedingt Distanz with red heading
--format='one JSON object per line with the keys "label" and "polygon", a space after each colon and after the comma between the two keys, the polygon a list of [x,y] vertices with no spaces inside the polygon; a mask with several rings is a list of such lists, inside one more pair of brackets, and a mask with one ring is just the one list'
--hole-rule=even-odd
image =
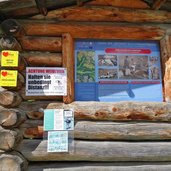
{"label": "white notice reading Halten sie unbedingt Distanz with red heading", "polygon": [[57,67],[27,67],[26,95],[27,96],[66,96],[66,68]]}

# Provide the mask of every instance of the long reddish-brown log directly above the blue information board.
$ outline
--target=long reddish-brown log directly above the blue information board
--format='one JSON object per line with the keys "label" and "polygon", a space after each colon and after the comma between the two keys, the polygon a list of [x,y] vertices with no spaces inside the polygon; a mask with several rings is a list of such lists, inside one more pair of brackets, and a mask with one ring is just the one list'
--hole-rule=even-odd
{"label": "long reddish-brown log directly above the blue information board", "polygon": [[[20,21],[27,35],[59,36],[70,33],[73,38],[160,40],[165,30],[151,26],[95,23],[36,23]],[[115,31],[113,31],[115,30]],[[143,33],[143,34],[142,34]]]}

